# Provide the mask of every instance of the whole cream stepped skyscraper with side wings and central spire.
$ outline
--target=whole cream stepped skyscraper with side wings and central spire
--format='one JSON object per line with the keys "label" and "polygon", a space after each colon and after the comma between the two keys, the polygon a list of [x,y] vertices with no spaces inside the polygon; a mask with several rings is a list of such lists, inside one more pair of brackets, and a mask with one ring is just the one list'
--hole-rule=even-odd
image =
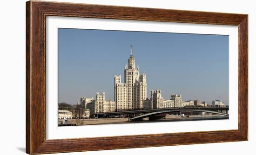
{"label": "whole cream stepped skyscraper with side wings and central spire", "polygon": [[143,108],[143,100],[147,98],[146,74],[139,74],[139,65],[135,66],[133,46],[130,48],[130,58],[124,67],[124,83],[121,75],[114,77],[116,110],[133,110]]}

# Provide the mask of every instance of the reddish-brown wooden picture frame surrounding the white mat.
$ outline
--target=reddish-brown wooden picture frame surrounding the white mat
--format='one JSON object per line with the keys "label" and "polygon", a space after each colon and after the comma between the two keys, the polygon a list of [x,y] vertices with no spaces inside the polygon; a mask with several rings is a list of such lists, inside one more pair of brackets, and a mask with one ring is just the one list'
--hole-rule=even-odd
{"label": "reddish-brown wooden picture frame surrounding the white mat", "polygon": [[[86,17],[238,26],[238,129],[46,140],[46,17]],[[235,142],[248,140],[248,15],[126,6],[27,1],[26,153]]]}

